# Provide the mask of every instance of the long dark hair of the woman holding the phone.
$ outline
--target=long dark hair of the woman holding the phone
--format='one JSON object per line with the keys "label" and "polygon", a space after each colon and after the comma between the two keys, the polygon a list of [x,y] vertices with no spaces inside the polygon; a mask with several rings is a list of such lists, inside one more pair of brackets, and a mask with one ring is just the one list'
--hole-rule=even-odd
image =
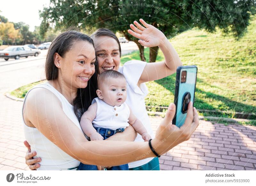
{"label": "long dark hair of the woman holding the phone", "polygon": [[[65,57],[65,54],[71,50],[72,46],[77,41],[87,41],[93,44],[93,40],[88,35],[74,30],[66,31],[58,35],[49,47],[46,63],[45,63],[45,75],[46,79],[55,80],[58,78],[58,68],[54,64],[54,54],[58,53],[61,57]],[[73,100],[74,112],[76,117],[80,121],[82,114],[87,111],[88,107],[92,104],[92,100],[97,97],[97,77],[98,77],[98,63],[95,65],[95,73],[88,81],[88,85],[84,89],[77,89],[77,96]]]}

